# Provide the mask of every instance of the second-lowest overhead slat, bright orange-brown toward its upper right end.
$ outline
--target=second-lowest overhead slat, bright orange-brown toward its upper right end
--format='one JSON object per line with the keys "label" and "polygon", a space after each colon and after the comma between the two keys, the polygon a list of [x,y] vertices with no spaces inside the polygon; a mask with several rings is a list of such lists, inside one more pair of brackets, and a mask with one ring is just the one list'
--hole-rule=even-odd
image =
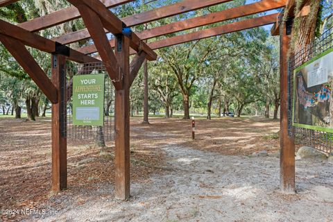
{"label": "second-lowest overhead slat, bright orange-brown toward its upper right end", "polygon": [[[142,31],[141,33],[137,33],[137,35],[140,39],[147,40],[152,37],[158,37],[161,35],[167,35],[170,33],[185,31],[190,28],[196,28],[199,26],[205,26],[208,24],[216,23],[216,22],[223,22],[228,19],[235,19],[235,18],[247,16],[247,15],[257,14],[259,12],[264,12],[267,10],[281,8],[281,7],[285,6],[286,1],[287,0],[259,1],[257,3],[251,3],[251,4],[248,4],[245,6],[239,6],[239,7],[223,10],[220,12],[214,12],[209,15],[203,15],[200,17],[186,19],[184,21],[173,22],[171,24],[167,24],[164,26],[159,26],[156,28]],[[114,47],[114,40],[110,40],[110,44],[112,47]],[[96,50],[96,46],[94,46],[94,44],[92,44],[90,46],[82,47],[82,48],[78,49],[78,51],[85,53],[85,54],[90,54],[90,53],[95,53],[97,50]]]}

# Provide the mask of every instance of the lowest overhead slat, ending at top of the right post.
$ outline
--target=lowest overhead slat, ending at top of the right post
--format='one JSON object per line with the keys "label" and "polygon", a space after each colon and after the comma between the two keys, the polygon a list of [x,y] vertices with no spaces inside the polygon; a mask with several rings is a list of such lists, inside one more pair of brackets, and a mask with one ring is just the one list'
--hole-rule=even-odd
{"label": "lowest overhead slat, ending at top of the right post", "polygon": [[[195,40],[201,40],[207,37],[213,37],[216,35],[223,35],[227,33],[234,33],[237,31],[242,31],[248,28],[256,28],[259,26],[265,26],[268,24],[273,24],[276,20],[278,13],[273,15],[265,15],[263,17],[257,17],[254,19],[246,19],[241,22],[234,22],[231,24],[226,24],[223,26],[217,26],[214,28],[207,28],[202,31],[197,31],[194,33],[188,33],[185,35],[177,35],[174,37],[169,37],[164,40],[159,40],[156,42],[151,42],[148,44],[151,49],[161,49],[167,46],[173,46],[176,44],[182,44],[185,42],[191,42]],[[132,52],[131,54],[134,54]]]}

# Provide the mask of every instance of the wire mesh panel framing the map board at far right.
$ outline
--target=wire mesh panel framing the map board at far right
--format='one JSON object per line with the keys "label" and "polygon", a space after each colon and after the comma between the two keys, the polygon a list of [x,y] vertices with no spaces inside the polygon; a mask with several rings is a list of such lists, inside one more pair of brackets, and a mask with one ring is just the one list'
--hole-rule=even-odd
{"label": "wire mesh panel framing the map board at far right", "polygon": [[333,28],[325,31],[321,37],[309,44],[305,49],[298,51],[289,59],[288,65],[288,130],[289,137],[297,144],[314,147],[325,153],[333,153],[333,134],[299,128],[292,126],[293,123],[293,70],[305,62],[315,58],[319,54],[333,48]]}

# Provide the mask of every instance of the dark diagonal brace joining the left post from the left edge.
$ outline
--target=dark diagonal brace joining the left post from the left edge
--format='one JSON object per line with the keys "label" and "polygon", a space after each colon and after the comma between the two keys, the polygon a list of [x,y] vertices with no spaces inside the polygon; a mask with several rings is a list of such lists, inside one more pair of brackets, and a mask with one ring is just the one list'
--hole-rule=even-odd
{"label": "dark diagonal brace joining the left post from the left edge", "polygon": [[26,46],[12,37],[1,34],[0,41],[51,103],[58,103],[58,90],[53,83],[51,83],[51,80],[46,76],[40,65],[37,64],[33,56],[31,56]]}

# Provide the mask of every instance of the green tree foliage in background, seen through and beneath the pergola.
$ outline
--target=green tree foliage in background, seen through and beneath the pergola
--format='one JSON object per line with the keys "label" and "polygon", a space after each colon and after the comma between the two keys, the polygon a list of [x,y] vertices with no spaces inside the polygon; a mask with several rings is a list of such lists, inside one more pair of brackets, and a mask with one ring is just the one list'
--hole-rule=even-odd
{"label": "green tree foliage in background, seen through and beneath the pergola", "polygon": [[[119,17],[127,17],[179,1],[133,1],[111,10]],[[245,0],[230,1],[158,19],[146,25],[135,26],[133,29],[142,31],[182,19],[241,6],[244,3],[246,3]],[[0,17],[11,23],[21,23],[68,6],[70,4],[65,0],[22,0],[0,8]],[[323,14],[327,15],[325,7],[323,7]],[[149,42],[238,20],[232,19],[232,21],[156,37]],[[83,20],[75,19],[46,28],[39,34],[51,38],[82,28],[85,28]],[[70,46],[77,48],[92,43],[92,40],[83,40]],[[49,54],[31,48],[28,50],[40,67],[50,76],[51,57]],[[267,98],[271,102],[274,101],[280,92],[278,87],[278,44],[276,40],[268,38],[268,33],[264,28],[254,28],[249,31],[188,42],[160,49],[157,53],[159,55],[157,61],[148,62],[149,107],[151,110],[157,111],[161,108],[184,110],[184,101],[188,98],[192,112],[207,112],[207,104],[211,101],[214,112],[219,110],[221,103],[229,111],[245,110],[247,113],[251,113],[253,110],[260,110],[264,104],[263,101],[266,101]],[[33,98],[39,101],[40,105],[48,107],[49,101],[2,45],[0,45],[0,56],[0,103],[24,105],[26,99]],[[142,76],[142,70],[140,70],[130,90],[130,102],[135,110],[142,110],[144,96]]]}

